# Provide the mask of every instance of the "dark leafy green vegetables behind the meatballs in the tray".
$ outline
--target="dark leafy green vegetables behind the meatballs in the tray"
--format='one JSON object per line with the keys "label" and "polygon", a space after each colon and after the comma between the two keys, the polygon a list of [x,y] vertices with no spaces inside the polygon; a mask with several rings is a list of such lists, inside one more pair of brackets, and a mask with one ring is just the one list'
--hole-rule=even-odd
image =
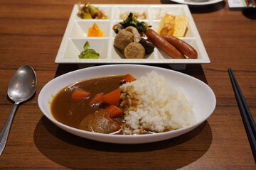
{"label": "dark leafy green vegetables behind the meatballs in the tray", "polygon": [[129,16],[127,16],[127,18],[124,21],[114,25],[112,29],[114,30],[115,33],[118,33],[120,29],[127,28],[128,26],[133,26],[137,28],[137,30],[141,35],[143,35],[143,33],[145,33],[146,30],[151,27],[143,21],[142,22],[137,21],[137,19],[133,17],[133,13],[129,13]]}

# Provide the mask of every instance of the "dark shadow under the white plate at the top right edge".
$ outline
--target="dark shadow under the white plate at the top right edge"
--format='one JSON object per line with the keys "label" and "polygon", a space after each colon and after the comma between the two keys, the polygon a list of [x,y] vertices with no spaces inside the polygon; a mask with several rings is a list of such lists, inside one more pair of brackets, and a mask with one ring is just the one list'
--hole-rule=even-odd
{"label": "dark shadow under the white plate at the top right edge", "polygon": [[[171,0],[161,0],[161,4],[178,4]],[[215,11],[219,11],[220,9],[225,7],[225,1],[220,1],[216,4],[208,4],[208,5],[188,5],[191,13],[211,13]]]}

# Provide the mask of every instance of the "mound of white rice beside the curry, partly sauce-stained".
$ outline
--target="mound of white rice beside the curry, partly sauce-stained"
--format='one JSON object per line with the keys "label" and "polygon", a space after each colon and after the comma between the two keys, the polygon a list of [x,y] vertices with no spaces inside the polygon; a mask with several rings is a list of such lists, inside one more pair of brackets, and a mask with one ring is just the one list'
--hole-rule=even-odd
{"label": "mound of white rice beside the curry, partly sauce-stained", "polygon": [[176,130],[196,122],[193,103],[154,71],[120,88],[126,134]]}

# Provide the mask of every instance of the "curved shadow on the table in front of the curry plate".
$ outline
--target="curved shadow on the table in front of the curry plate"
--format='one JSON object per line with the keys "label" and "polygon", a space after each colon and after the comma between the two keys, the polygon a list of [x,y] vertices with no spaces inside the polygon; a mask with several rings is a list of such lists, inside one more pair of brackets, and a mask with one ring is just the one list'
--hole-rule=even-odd
{"label": "curved shadow on the table in front of the curry plate", "polygon": [[61,130],[43,116],[34,142],[53,162],[70,169],[178,169],[200,159],[212,142],[206,121],[171,140],[140,145],[117,145],[87,140]]}

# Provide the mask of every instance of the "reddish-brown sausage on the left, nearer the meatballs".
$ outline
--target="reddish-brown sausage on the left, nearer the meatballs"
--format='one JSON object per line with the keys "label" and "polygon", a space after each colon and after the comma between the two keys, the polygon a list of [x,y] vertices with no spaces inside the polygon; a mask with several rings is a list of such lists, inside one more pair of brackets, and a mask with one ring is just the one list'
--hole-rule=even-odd
{"label": "reddish-brown sausage on the left, nearer the meatballs", "polygon": [[174,59],[185,59],[186,57],[176,49],[173,45],[171,45],[167,40],[162,38],[158,33],[156,33],[152,29],[146,30],[146,36],[161,50],[166,52],[167,55]]}

